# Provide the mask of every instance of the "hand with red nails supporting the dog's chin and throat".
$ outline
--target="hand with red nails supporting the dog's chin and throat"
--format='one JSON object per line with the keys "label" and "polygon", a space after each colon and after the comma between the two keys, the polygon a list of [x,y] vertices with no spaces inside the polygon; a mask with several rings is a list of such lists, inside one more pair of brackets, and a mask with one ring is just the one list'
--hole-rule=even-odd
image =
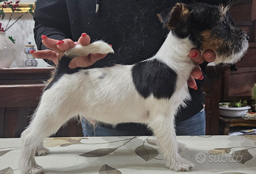
{"label": "hand with red nails supporting the dog's chin and throat", "polygon": [[193,48],[189,52],[189,57],[197,64],[197,67],[195,67],[193,72],[191,72],[191,76],[189,77],[187,84],[190,88],[197,90],[197,83],[195,82],[195,79],[203,80],[204,78],[199,65],[204,61],[213,62],[216,59],[216,54],[212,50],[207,50],[203,55],[201,55],[201,52],[198,49]]}

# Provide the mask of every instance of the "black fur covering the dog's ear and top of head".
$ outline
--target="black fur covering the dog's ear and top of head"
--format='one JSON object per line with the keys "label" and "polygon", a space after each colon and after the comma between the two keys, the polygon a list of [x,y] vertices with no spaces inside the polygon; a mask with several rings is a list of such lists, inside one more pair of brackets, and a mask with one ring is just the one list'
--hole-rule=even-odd
{"label": "black fur covering the dog's ear and top of head", "polygon": [[192,5],[177,4],[174,9],[166,9],[158,16],[164,25],[178,38],[187,38],[195,44],[201,46],[201,32],[211,30],[219,20],[220,11],[217,6],[205,3],[195,3]]}

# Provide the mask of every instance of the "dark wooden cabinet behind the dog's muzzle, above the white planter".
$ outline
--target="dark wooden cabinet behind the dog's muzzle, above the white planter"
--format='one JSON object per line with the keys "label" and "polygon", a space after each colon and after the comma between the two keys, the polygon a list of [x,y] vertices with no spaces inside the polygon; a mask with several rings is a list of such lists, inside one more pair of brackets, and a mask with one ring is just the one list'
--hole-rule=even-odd
{"label": "dark wooden cabinet behind the dog's muzzle, above the white planter", "polygon": [[236,25],[250,37],[249,49],[236,63],[238,71],[224,73],[220,100],[251,100],[251,89],[256,83],[256,0],[232,0],[230,14]]}

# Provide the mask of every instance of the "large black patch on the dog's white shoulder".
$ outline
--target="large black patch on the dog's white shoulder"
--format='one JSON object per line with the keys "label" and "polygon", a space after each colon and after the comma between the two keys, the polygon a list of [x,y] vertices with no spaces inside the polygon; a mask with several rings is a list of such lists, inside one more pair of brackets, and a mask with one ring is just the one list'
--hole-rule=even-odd
{"label": "large black patch on the dog's white shoulder", "polygon": [[156,59],[135,64],[132,77],[135,88],[143,98],[153,94],[157,99],[170,99],[176,90],[176,72]]}

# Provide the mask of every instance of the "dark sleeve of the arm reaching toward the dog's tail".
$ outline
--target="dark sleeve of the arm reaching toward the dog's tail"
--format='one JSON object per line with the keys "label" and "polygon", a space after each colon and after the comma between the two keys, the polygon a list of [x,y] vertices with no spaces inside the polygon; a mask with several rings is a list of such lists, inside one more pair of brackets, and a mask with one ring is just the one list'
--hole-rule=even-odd
{"label": "dark sleeve of the arm reaching toward the dog's tail", "polygon": [[[65,0],[38,0],[34,13],[34,38],[38,50],[49,49],[42,44],[42,36],[55,40],[72,39],[69,24],[69,14]],[[55,51],[60,50],[55,49]],[[50,65],[54,65],[49,59],[45,59]]]}

